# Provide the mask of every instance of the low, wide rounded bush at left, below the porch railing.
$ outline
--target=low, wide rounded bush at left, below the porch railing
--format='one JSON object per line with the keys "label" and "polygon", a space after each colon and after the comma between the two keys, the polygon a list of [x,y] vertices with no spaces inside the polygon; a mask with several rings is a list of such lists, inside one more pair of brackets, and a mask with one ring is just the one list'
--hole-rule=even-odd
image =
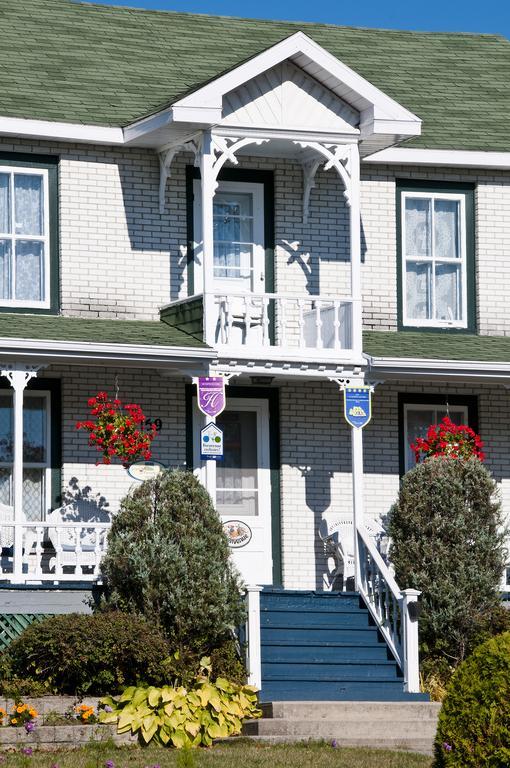
{"label": "low, wide rounded bush at left, below the porch railing", "polygon": [[58,693],[117,693],[126,685],[166,681],[162,632],[118,611],[68,614],[32,624],[10,646],[12,674]]}

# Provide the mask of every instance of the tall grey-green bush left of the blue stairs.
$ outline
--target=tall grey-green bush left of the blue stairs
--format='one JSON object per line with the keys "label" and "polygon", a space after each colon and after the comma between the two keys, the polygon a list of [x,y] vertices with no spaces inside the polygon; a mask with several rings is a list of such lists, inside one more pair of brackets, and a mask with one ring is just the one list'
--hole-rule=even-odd
{"label": "tall grey-green bush left of the blue stairs", "polygon": [[123,499],[101,567],[111,604],[159,624],[197,660],[244,619],[221,521],[190,472],[162,472]]}

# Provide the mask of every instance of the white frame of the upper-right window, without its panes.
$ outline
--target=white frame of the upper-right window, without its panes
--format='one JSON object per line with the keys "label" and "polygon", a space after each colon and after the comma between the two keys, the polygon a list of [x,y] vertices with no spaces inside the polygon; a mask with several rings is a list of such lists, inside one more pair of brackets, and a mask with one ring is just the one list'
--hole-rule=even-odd
{"label": "white frame of the upper-right window, without its panes", "polygon": [[[424,191],[411,191],[406,190],[401,193],[401,206],[400,206],[400,248],[401,248],[401,279],[402,279],[402,324],[404,326],[421,327],[421,328],[467,328],[468,326],[468,306],[467,306],[467,221],[466,221],[466,196],[462,192],[424,192]],[[416,256],[409,256],[406,253],[406,200],[407,199],[426,199],[431,201],[431,255],[421,258]],[[460,258],[440,258],[436,259],[435,256],[435,236],[434,236],[434,203],[436,200],[454,200],[459,203],[459,247]],[[432,317],[430,320],[422,318],[408,317],[407,315],[407,262],[420,263],[424,262],[432,265],[432,310],[435,313],[435,266],[439,264],[460,264],[460,279],[461,279],[461,317],[459,320],[439,320]]]}

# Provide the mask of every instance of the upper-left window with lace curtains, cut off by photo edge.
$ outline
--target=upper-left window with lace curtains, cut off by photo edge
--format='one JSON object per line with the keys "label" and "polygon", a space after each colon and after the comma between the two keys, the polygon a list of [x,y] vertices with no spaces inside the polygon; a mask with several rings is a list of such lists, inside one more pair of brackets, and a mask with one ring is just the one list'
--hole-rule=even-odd
{"label": "upper-left window with lace curtains, cut off by photo edge", "polygon": [[58,285],[54,164],[0,160],[0,307],[51,310]]}

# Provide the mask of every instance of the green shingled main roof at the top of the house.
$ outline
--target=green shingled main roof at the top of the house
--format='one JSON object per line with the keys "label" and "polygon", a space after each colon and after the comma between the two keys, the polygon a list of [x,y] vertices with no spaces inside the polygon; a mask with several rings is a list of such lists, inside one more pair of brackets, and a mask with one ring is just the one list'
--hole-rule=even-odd
{"label": "green shingled main roof at the top of the house", "polygon": [[123,126],[297,30],[422,118],[423,135],[407,146],[510,151],[510,42],[503,37],[71,0],[1,0],[0,115]]}

